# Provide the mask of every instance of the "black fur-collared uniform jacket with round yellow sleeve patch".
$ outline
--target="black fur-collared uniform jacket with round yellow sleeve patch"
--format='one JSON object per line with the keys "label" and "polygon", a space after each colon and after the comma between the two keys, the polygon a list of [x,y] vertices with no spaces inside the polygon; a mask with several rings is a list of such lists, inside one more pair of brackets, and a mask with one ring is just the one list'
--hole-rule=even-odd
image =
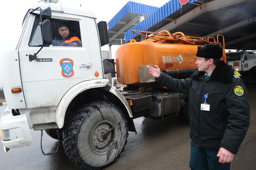
{"label": "black fur-collared uniform jacket with round yellow sleeve patch", "polygon": [[[176,79],[161,73],[157,81],[169,89],[189,93],[190,138],[199,147],[237,153],[249,127],[248,92],[234,70],[220,61],[210,78],[195,72],[191,78]],[[210,111],[202,111],[205,102]]]}

